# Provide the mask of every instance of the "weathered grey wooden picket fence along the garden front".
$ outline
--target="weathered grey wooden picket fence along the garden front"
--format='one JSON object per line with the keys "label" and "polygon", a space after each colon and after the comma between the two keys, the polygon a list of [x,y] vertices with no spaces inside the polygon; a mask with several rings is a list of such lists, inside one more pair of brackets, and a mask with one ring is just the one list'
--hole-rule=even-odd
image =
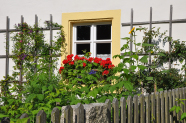
{"label": "weathered grey wooden picket fence along the garden front", "polygon": [[[120,101],[114,98],[112,103],[109,99],[105,101],[108,112],[112,115],[108,117],[109,123],[177,123],[181,118],[179,112],[169,112],[171,107],[179,104],[175,101],[176,98],[186,99],[186,87],[165,90],[164,92],[157,92],[156,94],[135,95],[133,98],[128,96],[127,99],[121,97]],[[183,101],[186,104],[186,101]],[[112,106],[111,106],[112,105]],[[81,103],[76,105],[75,112],[72,110],[72,106],[66,106],[64,110],[64,122],[65,123],[87,123],[84,115],[85,108]],[[186,105],[182,105],[181,109],[186,112]],[[120,113],[119,113],[120,112]],[[75,118],[73,118],[75,113]],[[62,114],[61,114],[62,115]],[[110,116],[111,116],[110,115]],[[20,119],[26,118],[26,113],[22,114]],[[60,121],[60,110],[53,108],[51,113],[51,123],[62,123]],[[75,119],[75,121],[73,121]],[[29,119],[28,122],[29,123]],[[36,116],[36,123],[46,123],[46,113],[40,110]],[[186,123],[181,121],[179,123]]]}

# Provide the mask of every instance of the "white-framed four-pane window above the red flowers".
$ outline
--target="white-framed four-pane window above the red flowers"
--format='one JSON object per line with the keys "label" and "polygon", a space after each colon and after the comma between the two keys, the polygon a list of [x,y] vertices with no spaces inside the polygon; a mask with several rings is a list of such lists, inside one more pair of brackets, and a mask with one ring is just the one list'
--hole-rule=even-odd
{"label": "white-framed four-pane window above the red flowers", "polygon": [[[111,59],[112,25],[110,23],[84,23],[73,25],[74,55],[83,56],[83,51],[91,52],[91,57]],[[83,50],[83,51],[82,51]]]}

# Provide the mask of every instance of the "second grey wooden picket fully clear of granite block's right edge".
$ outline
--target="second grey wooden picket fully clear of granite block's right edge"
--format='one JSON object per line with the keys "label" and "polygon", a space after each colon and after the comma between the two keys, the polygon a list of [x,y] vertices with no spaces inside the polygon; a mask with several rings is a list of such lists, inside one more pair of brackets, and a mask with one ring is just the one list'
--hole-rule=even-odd
{"label": "second grey wooden picket fully clear of granite block's right edge", "polygon": [[125,97],[120,98],[121,123],[126,123],[126,100]]}

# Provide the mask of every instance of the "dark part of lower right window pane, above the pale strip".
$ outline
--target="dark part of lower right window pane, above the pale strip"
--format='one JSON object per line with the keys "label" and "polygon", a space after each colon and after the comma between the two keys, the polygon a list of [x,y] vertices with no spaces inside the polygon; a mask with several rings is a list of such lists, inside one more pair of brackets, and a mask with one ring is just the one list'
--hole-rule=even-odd
{"label": "dark part of lower right window pane, above the pale strip", "polygon": [[111,44],[110,43],[97,43],[97,54],[110,54],[111,53]]}

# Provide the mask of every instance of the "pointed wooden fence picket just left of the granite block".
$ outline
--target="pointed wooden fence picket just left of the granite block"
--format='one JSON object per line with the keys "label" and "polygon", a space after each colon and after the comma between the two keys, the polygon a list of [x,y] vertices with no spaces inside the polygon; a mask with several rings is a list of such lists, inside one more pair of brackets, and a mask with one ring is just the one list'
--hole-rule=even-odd
{"label": "pointed wooden fence picket just left of the granite block", "polygon": [[51,122],[52,123],[59,123],[60,122],[60,112],[57,107],[53,108],[53,110],[52,110]]}

